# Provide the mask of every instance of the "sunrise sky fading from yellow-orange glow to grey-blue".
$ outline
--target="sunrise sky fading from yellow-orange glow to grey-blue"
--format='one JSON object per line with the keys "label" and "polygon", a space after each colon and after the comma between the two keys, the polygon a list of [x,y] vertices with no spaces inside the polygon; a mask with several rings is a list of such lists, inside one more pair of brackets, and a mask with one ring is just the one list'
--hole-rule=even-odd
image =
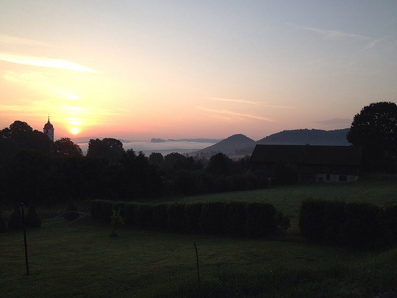
{"label": "sunrise sky fading from yellow-orange glow to grey-blue", "polygon": [[0,4],[0,129],[259,140],[397,100],[396,0]]}

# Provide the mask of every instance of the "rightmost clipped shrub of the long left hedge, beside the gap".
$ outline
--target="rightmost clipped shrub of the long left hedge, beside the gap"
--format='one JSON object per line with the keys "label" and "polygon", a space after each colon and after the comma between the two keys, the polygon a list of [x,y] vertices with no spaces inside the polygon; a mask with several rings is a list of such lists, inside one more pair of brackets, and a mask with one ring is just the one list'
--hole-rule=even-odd
{"label": "rightmost clipped shrub of the long left hedge, beside the gap", "polygon": [[268,237],[275,232],[276,210],[273,205],[261,202],[247,203],[245,214],[248,237]]}

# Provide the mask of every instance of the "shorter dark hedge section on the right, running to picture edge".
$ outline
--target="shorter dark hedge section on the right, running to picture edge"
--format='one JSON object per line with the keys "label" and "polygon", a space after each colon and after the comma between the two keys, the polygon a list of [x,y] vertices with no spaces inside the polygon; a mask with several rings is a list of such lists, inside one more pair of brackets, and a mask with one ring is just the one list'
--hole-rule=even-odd
{"label": "shorter dark hedge section on the right, running to picture edge", "polygon": [[384,209],[366,202],[303,200],[301,233],[311,241],[354,249],[379,249],[397,244],[397,205]]}

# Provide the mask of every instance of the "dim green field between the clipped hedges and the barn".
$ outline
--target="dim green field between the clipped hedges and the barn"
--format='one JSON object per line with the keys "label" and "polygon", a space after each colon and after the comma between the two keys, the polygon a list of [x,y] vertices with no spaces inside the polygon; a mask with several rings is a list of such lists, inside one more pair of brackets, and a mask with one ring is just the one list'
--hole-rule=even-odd
{"label": "dim green field between the clipped hedges and the barn", "polygon": [[355,183],[317,183],[277,186],[262,190],[240,191],[199,196],[187,196],[170,201],[265,201],[288,216],[298,216],[300,202],[305,198],[326,200],[365,201],[375,205],[397,201],[397,181],[363,181]]}

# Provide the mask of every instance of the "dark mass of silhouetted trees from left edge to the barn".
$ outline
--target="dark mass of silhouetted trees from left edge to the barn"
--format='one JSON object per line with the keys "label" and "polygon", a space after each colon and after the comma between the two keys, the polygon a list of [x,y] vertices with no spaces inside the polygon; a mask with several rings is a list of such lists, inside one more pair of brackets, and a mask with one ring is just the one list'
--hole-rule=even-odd
{"label": "dark mass of silhouetted trees from left edge to the barn", "polygon": [[[145,201],[153,198],[263,188],[267,177],[249,173],[249,156],[233,161],[180,153],[145,156],[116,139],[91,139],[86,156],[68,138],[52,143],[22,121],[0,131],[3,204],[56,205],[70,199]],[[5,150],[3,150],[5,149]]]}

